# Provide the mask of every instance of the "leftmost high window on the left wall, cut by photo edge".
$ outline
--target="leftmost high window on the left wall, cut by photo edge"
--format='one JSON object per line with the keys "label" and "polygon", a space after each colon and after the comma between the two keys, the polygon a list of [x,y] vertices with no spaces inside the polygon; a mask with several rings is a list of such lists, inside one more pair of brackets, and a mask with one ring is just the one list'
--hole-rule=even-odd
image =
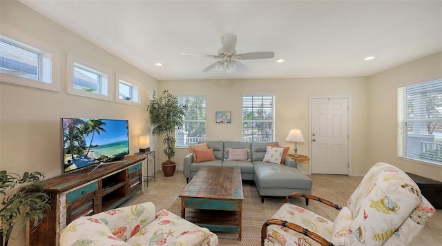
{"label": "leftmost high window on the left wall, cut by photo edge", "polygon": [[42,45],[35,41],[24,37],[21,40],[26,43],[0,35],[1,81],[59,91],[59,82],[52,83],[57,81],[52,79],[52,59],[58,59],[58,55],[39,48]]}

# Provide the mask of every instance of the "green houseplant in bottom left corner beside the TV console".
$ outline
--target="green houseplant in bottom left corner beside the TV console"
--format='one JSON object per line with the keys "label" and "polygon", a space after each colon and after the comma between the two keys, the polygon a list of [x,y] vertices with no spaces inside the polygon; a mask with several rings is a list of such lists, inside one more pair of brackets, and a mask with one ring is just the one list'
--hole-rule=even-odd
{"label": "green houseplant in bottom left corner beside the TV console", "polygon": [[43,191],[41,180],[44,173],[25,172],[23,176],[0,171],[0,245],[8,246],[12,229],[15,225],[26,225],[30,222],[37,228],[50,209],[50,196]]}

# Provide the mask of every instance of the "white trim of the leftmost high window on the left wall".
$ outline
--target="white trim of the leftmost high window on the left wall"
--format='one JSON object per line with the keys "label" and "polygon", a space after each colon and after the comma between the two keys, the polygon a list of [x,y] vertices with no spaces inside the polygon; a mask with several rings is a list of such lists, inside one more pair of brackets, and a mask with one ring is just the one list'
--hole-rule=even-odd
{"label": "white trim of the leftmost high window on the left wall", "polygon": [[10,74],[0,73],[0,82],[12,83],[15,85],[23,85],[31,88],[38,88],[43,90],[51,90],[54,92],[60,91],[60,52],[59,50],[55,50],[50,45],[43,43],[41,41],[37,41],[36,39],[32,39],[26,34],[21,32],[17,32],[16,30],[9,30],[8,28],[0,28],[1,35],[6,37],[6,39],[12,39],[15,41],[19,41],[26,45],[32,46],[38,50],[42,50],[48,53],[48,59],[45,59],[45,63],[50,60],[50,71],[45,73],[43,81],[36,81],[33,79],[21,78],[18,76],[13,76]]}

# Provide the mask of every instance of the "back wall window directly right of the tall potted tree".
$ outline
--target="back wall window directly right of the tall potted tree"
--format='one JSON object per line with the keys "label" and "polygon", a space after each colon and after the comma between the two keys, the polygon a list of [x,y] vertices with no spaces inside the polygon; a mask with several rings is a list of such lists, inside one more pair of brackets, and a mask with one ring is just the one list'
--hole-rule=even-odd
{"label": "back wall window directly right of the tall potted tree", "polygon": [[177,147],[206,141],[206,96],[178,96],[180,104],[187,104],[184,127],[175,133]]}

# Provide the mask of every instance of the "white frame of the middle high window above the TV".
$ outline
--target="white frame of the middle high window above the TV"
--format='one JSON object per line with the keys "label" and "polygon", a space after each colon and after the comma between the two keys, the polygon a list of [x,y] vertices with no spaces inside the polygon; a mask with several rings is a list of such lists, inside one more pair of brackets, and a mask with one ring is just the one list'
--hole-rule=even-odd
{"label": "white frame of the middle high window above the TV", "polygon": [[[80,59],[77,59],[73,57],[72,55],[68,55],[67,59],[67,66],[66,66],[66,92],[68,94],[74,94],[77,96],[85,96],[93,99],[100,99],[104,101],[113,101],[113,89],[115,83],[111,83],[113,78],[113,74],[109,72],[108,70],[104,68],[100,68],[97,65],[92,65],[86,61],[82,61]],[[74,86],[74,67],[77,65],[77,67],[84,69],[88,72],[93,72],[94,74],[101,76],[101,81],[99,83],[102,83],[102,87],[106,85],[106,88],[102,88],[102,90],[106,91],[106,94],[101,93],[93,93],[93,92],[87,92],[84,90],[78,90]]]}

